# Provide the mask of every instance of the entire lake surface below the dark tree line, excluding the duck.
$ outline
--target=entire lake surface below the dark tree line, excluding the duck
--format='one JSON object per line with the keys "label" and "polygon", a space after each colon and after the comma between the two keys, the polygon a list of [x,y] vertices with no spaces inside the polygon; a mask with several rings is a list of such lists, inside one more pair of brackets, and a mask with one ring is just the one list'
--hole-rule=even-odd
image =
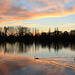
{"label": "entire lake surface below the dark tree line, excluding the duck", "polygon": [[0,75],[75,75],[75,44],[1,43]]}

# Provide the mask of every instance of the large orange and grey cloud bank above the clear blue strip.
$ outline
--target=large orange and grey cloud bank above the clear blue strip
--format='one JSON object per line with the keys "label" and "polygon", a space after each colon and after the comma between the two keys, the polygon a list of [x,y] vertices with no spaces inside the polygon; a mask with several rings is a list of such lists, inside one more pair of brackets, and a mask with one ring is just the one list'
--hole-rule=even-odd
{"label": "large orange and grey cloud bank above the clear blue strip", "polygon": [[75,14],[74,4],[75,0],[0,0],[0,23]]}

